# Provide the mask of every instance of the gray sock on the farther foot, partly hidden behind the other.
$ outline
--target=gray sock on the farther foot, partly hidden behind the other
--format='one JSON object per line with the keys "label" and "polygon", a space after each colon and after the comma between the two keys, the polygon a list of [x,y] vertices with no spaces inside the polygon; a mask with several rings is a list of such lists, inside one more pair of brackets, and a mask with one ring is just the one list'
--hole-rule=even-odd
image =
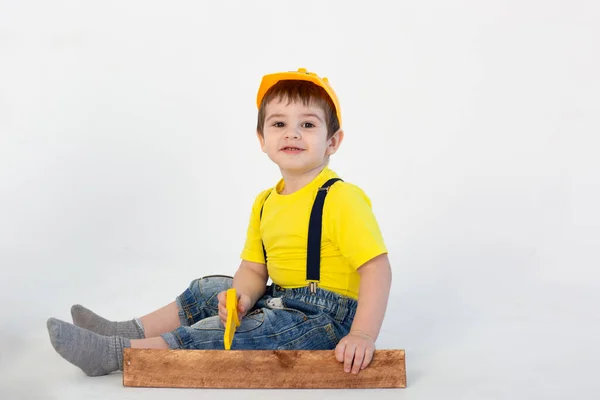
{"label": "gray sock on the farther foot, partly hidden behind the other", "polygon": [[71,316],[75,325],[99,335],[122,336],[128,339],[145,337],[142,322],[137,318],[129,321],[109,321],[80,304],[71,307]]}

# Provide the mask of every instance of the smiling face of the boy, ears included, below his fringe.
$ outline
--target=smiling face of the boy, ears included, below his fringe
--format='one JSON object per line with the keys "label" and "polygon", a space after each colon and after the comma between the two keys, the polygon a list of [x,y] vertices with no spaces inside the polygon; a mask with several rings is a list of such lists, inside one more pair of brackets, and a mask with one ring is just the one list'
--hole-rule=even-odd
{"label": "smiling face of the boy, ears included, below his fringe", "polygon": [[341,131],[327,139],[325,113],[301,102],[273,100],[266,107],[262,149],[282,172],[308,172],[323,165],[335,153]]}

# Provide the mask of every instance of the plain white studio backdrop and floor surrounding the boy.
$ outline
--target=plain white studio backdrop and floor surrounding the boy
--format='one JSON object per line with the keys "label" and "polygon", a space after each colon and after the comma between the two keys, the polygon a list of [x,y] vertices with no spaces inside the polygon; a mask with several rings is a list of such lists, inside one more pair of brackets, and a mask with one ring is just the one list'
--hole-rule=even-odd
{"label": "plain white studio backdrop and floor surrounding the boy", "polygon": [[[0,1],[2,399],[591,399],[600,308],[593,1]],[[373,201],[408,388],[131,389],[46,319],[129,319],[233,274],[263,74],[329,77],[331,167]]]}

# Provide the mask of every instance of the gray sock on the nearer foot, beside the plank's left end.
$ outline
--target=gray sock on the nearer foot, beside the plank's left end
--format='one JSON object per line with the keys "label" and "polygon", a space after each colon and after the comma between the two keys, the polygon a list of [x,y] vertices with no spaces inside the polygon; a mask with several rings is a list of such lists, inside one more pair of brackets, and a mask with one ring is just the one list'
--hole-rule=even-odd
{"label": "gray sock on the nearer foot, beside the plank's left end", "polygon": [[56,318],[50,318],[46,326],[56,352],[86,375],[123,370],[123,348],[131,347],[129,339],[101,336]]}

